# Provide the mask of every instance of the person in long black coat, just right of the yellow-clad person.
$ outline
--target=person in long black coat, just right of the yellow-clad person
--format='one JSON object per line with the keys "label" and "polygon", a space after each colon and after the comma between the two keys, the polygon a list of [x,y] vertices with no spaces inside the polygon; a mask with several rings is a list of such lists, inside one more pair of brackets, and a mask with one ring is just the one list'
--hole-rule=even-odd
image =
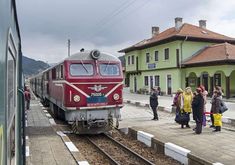
{"label": "person in long black coat, just right of the yellow-clad person", "polygon": [[193,119],[196,122],[196,128],[194,129],[194,131],[196,134],[200,134],[202,132],[203,112],[204,112],[204,99],[201,88],[196,89],[196,93],[192,101],[192,109],[193,109]]}

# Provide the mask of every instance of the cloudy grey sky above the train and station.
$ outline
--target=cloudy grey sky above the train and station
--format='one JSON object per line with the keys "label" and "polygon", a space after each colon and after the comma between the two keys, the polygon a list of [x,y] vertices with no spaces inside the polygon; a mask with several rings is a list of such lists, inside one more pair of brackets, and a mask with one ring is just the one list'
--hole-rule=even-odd
{"label": "cloudy grey sky above the train and station", "polygon": [[16,0],[24,56],[57,63],[81,48],[115,56],[176,17],[235,38],[234,0]]}

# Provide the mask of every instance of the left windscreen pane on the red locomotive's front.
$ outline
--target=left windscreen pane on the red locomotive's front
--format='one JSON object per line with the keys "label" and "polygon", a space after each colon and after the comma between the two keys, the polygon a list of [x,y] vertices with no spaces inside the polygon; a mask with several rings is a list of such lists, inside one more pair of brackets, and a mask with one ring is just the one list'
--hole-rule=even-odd
{"label": "left windscreen pane on the red locomotive's front", "polygon": [[91,76],[94,74],[92,64],[71,64],[70,74],[72,76]]}

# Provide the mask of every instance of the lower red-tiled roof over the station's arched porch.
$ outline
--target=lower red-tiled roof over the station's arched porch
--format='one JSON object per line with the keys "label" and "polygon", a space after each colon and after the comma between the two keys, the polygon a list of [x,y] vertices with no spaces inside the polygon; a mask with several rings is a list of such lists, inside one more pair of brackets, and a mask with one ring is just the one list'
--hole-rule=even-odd
{"label": "lower red-tiled roof over the station's arched porch", "polygon": [[210,63],[219,61],[235,61],[235,45],[229,43],[216,44],[199,50],[183,65]]}

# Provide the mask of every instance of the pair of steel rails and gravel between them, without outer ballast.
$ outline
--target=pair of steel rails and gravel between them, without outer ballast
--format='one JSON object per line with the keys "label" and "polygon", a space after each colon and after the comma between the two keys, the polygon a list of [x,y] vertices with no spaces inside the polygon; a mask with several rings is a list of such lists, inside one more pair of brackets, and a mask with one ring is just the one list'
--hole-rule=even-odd
{"label": "pair of steel rails and gravel between them, without outer ballast", "polygon": [[109,160],[110,164],[154,165],[154,163],[132,151],[109,135],[101,134],[96,137],[87,136],[86,138],[102,155]]}

